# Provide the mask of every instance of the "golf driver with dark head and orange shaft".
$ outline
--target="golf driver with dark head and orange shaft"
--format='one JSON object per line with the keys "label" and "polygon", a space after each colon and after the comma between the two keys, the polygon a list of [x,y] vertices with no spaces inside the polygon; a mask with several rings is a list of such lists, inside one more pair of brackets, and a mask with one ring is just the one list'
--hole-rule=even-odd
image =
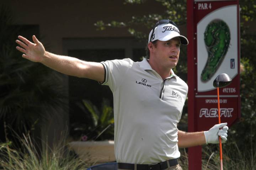
{"label": "golf driver with dark head and orange shaft", "polygon": [[[219,74],[215,80],[213,81],[213,86],[217,87],[217,96],[218,96],[218,115],[219,115],[219,124],[220,124],[220,104],[219,104],[219,87],[228,86],[231,83],[232,79],[229,77],[228,74],[222,73]],[[223,163],[222,163],[222,143],[221,138],[219,136],[219,146],[220,146],[220,170],[223,170]]]}

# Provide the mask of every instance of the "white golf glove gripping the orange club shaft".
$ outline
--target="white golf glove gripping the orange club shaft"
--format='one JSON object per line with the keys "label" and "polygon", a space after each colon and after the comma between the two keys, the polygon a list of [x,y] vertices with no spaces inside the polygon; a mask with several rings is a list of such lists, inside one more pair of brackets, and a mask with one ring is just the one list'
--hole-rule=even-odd
{"label": "white golf glove gripping the orange club shaft", "polygon": [[222,138],[222,143],[225,143],[228,137],[228,126],[226,126],[227,124],[228,123],[217,124],[210,128],[208,131],[204,131],[206,144],[219,143],[219,136]]}

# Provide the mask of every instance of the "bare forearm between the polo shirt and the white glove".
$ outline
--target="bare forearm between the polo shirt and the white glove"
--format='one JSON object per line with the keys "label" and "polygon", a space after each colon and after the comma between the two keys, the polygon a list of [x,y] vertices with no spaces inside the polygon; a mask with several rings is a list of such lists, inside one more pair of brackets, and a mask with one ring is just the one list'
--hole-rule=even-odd
{"label": "bare forearm between the polo shirt and the white glove", "polygon": [[204,132],[178,131],[178,147],[187,148],[206,144]]}

